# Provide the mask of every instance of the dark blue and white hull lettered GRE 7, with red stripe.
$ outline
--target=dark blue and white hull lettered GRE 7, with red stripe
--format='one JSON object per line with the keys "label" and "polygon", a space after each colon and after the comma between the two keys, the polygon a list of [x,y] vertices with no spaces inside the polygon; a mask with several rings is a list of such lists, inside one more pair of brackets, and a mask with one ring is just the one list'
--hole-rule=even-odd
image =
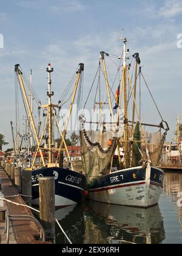
{"label": "dark blue and white hull lettered GRE 7, with red stripe", "polygon": [[89,199],[107,204],[148,208],[158,204],[164,172],[147,166],[112,172],[93,180]]}

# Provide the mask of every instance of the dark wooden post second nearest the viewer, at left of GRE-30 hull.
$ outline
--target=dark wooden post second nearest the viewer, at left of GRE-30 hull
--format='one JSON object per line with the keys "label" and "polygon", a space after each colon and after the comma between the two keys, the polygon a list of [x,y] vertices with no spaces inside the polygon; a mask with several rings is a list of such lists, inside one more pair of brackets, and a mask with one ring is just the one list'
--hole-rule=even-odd
{"label": "dark wooden post second nearest the viewer, at left of GRE-30 hull", "polygon": [[[32,171],[22,170],[22,196],[25,203],[32,206]],[[27,197],[29,196],[29,197]]]}

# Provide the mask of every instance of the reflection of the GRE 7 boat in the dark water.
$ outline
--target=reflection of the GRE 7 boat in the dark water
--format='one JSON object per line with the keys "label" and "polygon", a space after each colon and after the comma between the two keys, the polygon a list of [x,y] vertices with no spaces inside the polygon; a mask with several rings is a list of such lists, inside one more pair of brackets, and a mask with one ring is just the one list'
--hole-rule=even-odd
{"label": "reflection of the GRE 7 boat in the dark water", "polygon": [[102,229],[107,229],[108,243],[156,244],[165,238],[163,217],[158,206],[140,209],[92,201],[89,206],[98,214],[93,222],[103,219]]}

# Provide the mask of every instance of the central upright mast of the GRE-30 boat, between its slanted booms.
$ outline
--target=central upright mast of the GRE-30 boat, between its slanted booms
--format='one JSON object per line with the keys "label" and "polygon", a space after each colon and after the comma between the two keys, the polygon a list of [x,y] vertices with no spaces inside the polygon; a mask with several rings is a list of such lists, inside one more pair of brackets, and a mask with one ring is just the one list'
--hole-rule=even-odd
{"label": "central upright mast of the GRE-30 boat, between its slanted booms", "polygon": [[49,104],[47,106],[47,112],[48,112],[48,148],[49,148],[49,160],[48,163],[53,163],[53,149],[52,149],[52,143],[53,143],[53,136],[52,136],[52,114],[53,114],[53,108],[52,108],[52,96],[54,95],[52,91],[52,80],[51,80],[51,73],[53,72],[53,68],[51,68],[51,65],[49,63],[49,67],[47,68],[47,72],[49,73],[49,89],[47,92],[47,96],[49,96]]}

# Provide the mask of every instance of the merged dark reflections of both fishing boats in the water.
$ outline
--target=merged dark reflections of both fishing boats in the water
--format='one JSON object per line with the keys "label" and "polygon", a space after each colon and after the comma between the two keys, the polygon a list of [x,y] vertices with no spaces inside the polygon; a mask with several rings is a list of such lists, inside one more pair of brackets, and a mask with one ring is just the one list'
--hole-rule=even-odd
{"label": "merged dark reflections of both fishing boats in the water", "polygon": [[[75,244],[156,244],[165,238],[158,206],[145,210],[89,201],[61,209],[56,217]],[[59,230],[56,243],[67,243]]]}

